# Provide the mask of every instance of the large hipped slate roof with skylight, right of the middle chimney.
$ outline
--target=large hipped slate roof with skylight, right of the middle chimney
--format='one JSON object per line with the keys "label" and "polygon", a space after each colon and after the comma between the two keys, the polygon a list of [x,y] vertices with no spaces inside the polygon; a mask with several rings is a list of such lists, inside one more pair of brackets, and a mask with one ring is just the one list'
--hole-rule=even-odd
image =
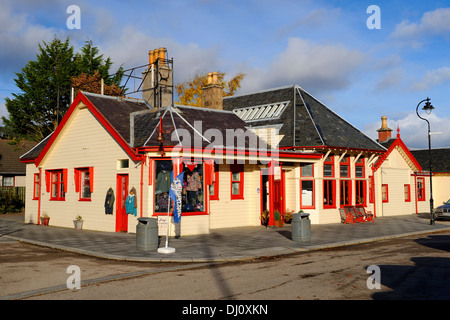
{"label": "large hipped slate roof with skylight, right of the middle chimney", "polygon": [[297,85],[224,98],[225,110],[289,101],[278,119],[247,122],[281,125],[280,147],[340,147],[385,151],[385,148]]}

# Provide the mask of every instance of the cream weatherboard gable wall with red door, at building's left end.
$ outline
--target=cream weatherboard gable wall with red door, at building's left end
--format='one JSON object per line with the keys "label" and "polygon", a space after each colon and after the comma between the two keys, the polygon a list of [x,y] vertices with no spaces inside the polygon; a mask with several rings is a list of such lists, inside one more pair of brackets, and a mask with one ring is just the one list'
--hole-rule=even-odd
{"label": "cream weatherboard gable wall with red door, at building's left end", "polygon": [[[82,104],[80,104],[82,105]],[[129,159],[129,168],[118,169],[117,160]],[[115,231],[116,210],[113,215],[105,215],[104,201],[107,190],[112,187],[116,196],[116,175],[129,175],[128,189],[134,187],[138,197],[138,216],[140,212],[140,162],[134,163],[105,130],[100,122],[87,108],[79,107],[71,114],[63,130],[44,157],[41,182],[41,215],[46,212],[50,216],[50,225],[73,228],[73,220],[81,215],[83,229],[99,231]],[[27,185],[32,186],[33,176],[28,172],[37,172],[34,164],[27,165]],[[79,201],[79,193],[75,192],[74,168],[94,167],[94,190],[91,201]],[[68,185],[65,201],[51,201],[50,193],[45,188],[45,170],[68,169]],[[32,198],[32,188],[27,188],[26,221],[36,222],[37,200]],[[146,204],[144,198],[144,206]],[[31,202],[31,203],[30,203]],[[128,230],[135,232],[137,220],[128,216]]]}

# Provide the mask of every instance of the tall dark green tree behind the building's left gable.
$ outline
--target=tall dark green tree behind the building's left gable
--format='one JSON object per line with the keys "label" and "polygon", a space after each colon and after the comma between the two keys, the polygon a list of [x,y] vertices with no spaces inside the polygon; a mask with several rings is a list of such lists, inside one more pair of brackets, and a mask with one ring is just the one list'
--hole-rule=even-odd
{"label": "tall dark green tree behind the building's left gable", "polygon": [[72,78],[98,71],[106,84],[120,84],[122,67],[108,77],[111,66],[111,59],[104,60],[90,41],[76,54],[69,38],[43,41],[36,60],[16,73],[14,81],[22,92],[5,99],[9,113],[8,119],[2,117],[5,129],[16,138],[42,140],[56,129],[70,106]]}

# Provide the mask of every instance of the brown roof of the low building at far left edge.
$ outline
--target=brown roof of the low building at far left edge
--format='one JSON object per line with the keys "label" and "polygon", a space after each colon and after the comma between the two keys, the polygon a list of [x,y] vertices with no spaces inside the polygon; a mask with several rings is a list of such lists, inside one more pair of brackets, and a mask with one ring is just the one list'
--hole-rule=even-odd
{"label": "brown roof of the low building at far left edge", "polygon": [[20,156],[34,147],[37,142],[23,141],[10,144],[11,140],[0,140],[0,174],[22,175],[26,172]]}

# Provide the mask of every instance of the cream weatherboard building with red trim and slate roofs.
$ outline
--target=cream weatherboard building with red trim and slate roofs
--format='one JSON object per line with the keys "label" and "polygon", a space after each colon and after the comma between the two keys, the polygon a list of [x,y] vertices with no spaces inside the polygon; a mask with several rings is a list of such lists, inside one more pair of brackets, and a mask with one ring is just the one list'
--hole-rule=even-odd
{"label": "cream weatherboard building with red trim and slate roofs", "polygon": [[[160,61],[151,57],[150,80],[155,67],[171,77]],[[155,94],[158,81],[150,80],[144,92]],[[421,167],[399,136],[386,148],[295,85],[223,98],[211,75],[202,94],[200,108],[172,105],[164,93],[80,92],[55,132],[21,157],[25,221],[39,223],[45,213],[51,225],[72,227],[80,215],[84,229],[135,232],[137,218],[172,211],[168,188],[181,172],[174,235],[257,226],[264,210],[269,225],[277,211],[335,223],[348,205],[376,216],[422,210]]]}

